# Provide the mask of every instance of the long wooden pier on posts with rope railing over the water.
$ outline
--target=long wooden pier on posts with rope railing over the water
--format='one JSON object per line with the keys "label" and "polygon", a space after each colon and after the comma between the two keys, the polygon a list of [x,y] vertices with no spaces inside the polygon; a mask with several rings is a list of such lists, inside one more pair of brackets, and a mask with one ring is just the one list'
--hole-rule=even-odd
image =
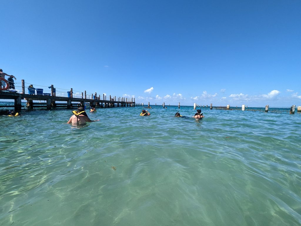
{"label": "long wooden pier on posts with rope railing over the water", "polygon": [[[58,107],[65,107],[67,109],[71,109],[73,107],[84,107],[85,103],[90,103],[90,106],[96,106],[96,107],[135,107],[135,98],[117,98],[116,96],[114,98],[111,98],[107,100],[107,97],[103,95],[103,99],[101,100],[100,95],[97,97],[97,93],[95,92],[95,95],[85,95],[82,92],[81,98],[73,97],[73,90],[71,88],[70,92],[67,92],[68,97],[61,97],[55,95],[55,88],[53,85],[51,85],[51,93],[47,95],[43,94],[26,94],[25,93],[25,85],[24,80],[22,80],[22,92],[8,92],[8,91],[0,91],[0,99],[10,99],[14,100],[14,106],[6,106],[6,105],[0,105],[0,107],[14,107],[14,110],[16,112],[20,112],[22,108],[22,101],[26,100],[26,107],[29,109],[33,108],[46,108],[47,110],[55,109]],[[92,98],[87,98],[87,96],[91,96]],[[39,102],[33,102],[33,101],[39,101]],[[45,103],[41,103],[41,101],[45,101]],[[60,103],[57,103],[57,102]],[[65,102],[65,103],[61,103]],[[77,103],[73,103],[77,102]]]}

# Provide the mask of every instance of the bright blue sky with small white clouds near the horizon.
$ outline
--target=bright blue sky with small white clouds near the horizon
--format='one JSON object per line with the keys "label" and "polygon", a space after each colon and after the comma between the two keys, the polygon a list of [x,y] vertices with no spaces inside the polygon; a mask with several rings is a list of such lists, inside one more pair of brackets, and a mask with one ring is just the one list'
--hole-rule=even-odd
{"label": "bright blue sky with small white clouds near the horizon", "polygon": [[0,8],[0,68],[16,82],[144,104],[301,105],[299,0],[0,0]]}

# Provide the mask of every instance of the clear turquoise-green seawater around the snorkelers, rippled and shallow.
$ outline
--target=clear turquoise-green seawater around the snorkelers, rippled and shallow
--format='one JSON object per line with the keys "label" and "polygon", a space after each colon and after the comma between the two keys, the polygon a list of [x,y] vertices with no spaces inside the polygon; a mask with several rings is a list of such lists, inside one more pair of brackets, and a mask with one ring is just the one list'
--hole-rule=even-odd
{"label": "clear turquoise-green seawater around the snorkelers, rippled and shallow", "polygon": [[0,116],[2,225],[301,225],[301,114],[181,107]]}

